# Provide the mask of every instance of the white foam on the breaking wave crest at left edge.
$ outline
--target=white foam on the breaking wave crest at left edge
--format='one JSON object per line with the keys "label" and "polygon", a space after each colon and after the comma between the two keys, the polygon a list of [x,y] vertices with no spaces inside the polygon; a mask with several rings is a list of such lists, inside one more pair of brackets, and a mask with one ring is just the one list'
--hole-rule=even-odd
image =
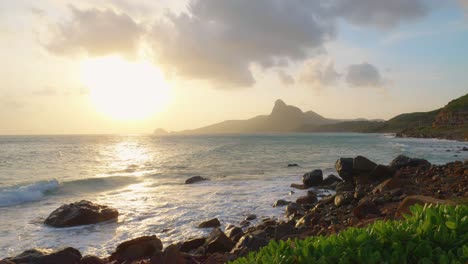
{"label": "white foam on the breaking wave crest at left edge", "polygon": [[60,186],[56,179],[0,189],[0,207],[40,201]]}

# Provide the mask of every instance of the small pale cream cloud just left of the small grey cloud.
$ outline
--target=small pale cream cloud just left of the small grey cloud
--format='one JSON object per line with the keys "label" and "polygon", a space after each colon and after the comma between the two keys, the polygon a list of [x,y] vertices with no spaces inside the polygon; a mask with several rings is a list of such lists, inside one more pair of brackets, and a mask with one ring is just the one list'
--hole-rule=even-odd
{"label": "small pale cream cloud just left of the small grey cloud", "polygon": [[335,69],[335,63],[331,59],[308,60],[299,72],[299,81],[314,89],[335,84],[341,75]]}

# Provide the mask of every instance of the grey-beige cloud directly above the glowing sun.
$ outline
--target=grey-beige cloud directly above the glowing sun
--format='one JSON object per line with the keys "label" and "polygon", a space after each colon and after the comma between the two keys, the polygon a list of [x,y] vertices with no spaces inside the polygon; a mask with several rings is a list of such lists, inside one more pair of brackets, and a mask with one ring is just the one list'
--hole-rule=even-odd
{"label": "grey-beige cloud directly above the glowing sun", "polygon": [[107,9],[69,6],[71,19],[56,25],[46,48],[56,54],[86,52],[92,56],[119,53],[134,56],[144,32],[131,17]]}

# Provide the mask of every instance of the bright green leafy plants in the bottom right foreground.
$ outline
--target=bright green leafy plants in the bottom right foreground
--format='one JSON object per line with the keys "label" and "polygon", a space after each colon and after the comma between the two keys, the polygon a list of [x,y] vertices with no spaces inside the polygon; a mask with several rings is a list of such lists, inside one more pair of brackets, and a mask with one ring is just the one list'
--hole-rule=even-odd
{"label": "bright green leafy plants in the bottom right foreground", "polygon": [[328,237],[271,241],[233,263],[467,263],[467,206],[414,206],[411,212],[402,221]]}

